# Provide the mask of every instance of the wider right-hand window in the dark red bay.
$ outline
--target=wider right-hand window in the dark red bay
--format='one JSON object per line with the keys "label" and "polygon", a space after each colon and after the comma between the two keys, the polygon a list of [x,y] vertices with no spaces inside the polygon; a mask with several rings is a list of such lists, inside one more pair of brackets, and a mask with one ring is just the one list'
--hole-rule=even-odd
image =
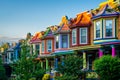
{"label": "wider right-hand window in the dark red bay", "polygon": [[87,44],[87,28],[80,28],[80,44]]}

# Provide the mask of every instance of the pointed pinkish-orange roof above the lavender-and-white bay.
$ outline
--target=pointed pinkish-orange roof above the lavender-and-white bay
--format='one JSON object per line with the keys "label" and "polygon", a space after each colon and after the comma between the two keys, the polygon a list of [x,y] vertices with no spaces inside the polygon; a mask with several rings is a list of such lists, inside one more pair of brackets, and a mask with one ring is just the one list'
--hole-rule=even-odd
{"label": "pointed pinkish-orange roof above the lavender-and-white bay", "polygon": [[65,33],[65,32],[69,32],[70,28],[69,28],[69,19],[67,16],[63,16],[59,29],[56,31],[56,33]]}

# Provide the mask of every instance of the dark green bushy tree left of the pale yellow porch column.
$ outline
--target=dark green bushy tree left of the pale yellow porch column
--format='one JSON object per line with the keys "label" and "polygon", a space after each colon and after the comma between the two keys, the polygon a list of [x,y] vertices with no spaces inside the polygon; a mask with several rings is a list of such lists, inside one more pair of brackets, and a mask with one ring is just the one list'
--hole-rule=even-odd
{"label": "dark green bushy tree left of the pale yellow porch column", "polygon": [[[74,76],[79,78],[82,75],[83,60],[79,56],[71,55],[64,59],[64,64],[60,63],[57,71],[63,76]],[[72,80],[72,79],[71,79]],[[74,80],[74,79],[73,79]]]}

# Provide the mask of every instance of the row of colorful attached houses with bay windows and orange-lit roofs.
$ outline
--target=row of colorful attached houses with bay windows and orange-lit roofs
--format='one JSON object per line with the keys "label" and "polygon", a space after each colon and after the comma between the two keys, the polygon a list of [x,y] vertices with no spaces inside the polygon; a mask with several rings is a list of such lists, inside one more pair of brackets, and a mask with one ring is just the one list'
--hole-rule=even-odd
{"label": "row of colorful attached houses with bay windows and orange-lit roofs", "polygon": [[57,68],[67,55],[77,54],[83,56],[83,69],[94,70],[96,58],[106,54],[120,57],[119,3],[109,0],[75,18],[63,16],[59,25],[35,34],[30,43],[39,54],[41,67]]}

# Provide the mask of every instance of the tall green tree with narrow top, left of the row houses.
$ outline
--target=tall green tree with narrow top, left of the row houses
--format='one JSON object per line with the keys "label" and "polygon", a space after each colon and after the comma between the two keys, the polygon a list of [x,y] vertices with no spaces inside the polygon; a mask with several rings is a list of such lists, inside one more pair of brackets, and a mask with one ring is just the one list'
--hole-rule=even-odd
{"label": "tall green tree with narrow top, left of the row houses", "polygon": [[45,71],[40,67],[40,62],[35,61],[36,55],[30,54],[30,47],[21,47],[20,59],[13,66],[17,80],[29,80],[30,78],[42,79]]}

